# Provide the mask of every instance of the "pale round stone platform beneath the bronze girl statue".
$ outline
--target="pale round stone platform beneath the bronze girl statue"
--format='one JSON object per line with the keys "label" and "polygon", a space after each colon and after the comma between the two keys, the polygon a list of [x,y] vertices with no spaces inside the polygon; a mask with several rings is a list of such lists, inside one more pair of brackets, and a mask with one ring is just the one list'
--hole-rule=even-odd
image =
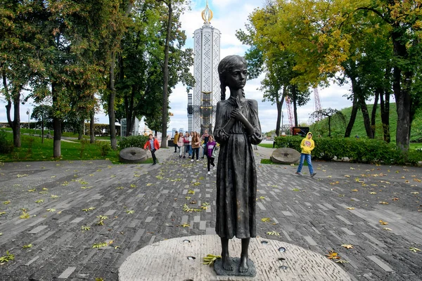
{"label": "pale round stone platform beneath the bronze girl statue", "polygon": [[[249,258],[255,277],[217,276],[213,266],[202,264],[207,254],[220,254],[217,235],[174,238],[143,247],[119,268],[120,281],[210,281],[210,280],[321,280],[350,281],[336,263],[313,251],[276,240],[250,240]],[[229,242],[230,256],[241,255],[241,240]]]}

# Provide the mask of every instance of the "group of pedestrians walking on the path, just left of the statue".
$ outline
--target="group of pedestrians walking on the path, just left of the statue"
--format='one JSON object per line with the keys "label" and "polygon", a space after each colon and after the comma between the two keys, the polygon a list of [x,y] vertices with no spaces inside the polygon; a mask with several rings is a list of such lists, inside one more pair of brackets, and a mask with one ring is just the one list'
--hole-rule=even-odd
{"label": "group of pedestrians walking on the path, just left of the statue", "polygon": [[214,167],[215,157],[217,156],[217,143],[210,134],[208,134],[208,130],[205,130],[202,136],[199,136],[198,132],[188,131],[185,132],[178,132],[174,133],[174,153],[177,153],[179,149],[179,158],[191,158],[191,162],[199,161],[200,157],[200,148],[202,146],[202,158],[205,156],[207,157],[207,174],[211,174],[210,166]]}

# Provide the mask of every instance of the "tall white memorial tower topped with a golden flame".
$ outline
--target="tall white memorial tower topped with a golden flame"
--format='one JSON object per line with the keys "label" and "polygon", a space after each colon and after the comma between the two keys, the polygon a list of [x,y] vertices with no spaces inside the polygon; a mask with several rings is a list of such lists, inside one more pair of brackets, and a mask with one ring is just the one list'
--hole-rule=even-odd
{"label": "tall white memorial tower topped with a golden flame", "polygon": [[205,129],[212,133],[215,126],[215,110],[220,100],[217,67],[221,36],[219,30],[211,26],[212,11],[208,8],[208,1],[201,15],[204,25],[193,35],[193,77],[196,84],[193,94],[188,93],[188,129],[200,134]]}

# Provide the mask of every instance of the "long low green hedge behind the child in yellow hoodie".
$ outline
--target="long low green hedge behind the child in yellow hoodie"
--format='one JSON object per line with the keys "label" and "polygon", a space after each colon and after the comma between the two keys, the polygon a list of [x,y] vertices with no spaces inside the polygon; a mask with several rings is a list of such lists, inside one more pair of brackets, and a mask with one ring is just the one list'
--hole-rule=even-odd
{"label": "long low green hedge behind the child in yellow hoodie", "polygon": [[[300,152],[300,136],[279,136],[275,138],[276,148],[293,148]],[[418,164],[422,151],[409,150],[403,153],[394,144],[363,138],[313,138],[314,159],[333,161],[347,157],[350,162],[380,164]]]}

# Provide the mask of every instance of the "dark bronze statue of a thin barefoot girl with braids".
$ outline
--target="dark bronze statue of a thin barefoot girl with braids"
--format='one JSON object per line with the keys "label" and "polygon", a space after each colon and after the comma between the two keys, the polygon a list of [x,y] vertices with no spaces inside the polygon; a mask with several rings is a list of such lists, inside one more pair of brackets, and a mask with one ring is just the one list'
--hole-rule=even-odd
{"label": "dark bronze statue of a thin barefoot girl with braids", "polygon": [[[256,237],[257,173],[252,145],[262,141],[256,100],[245,98],[245,58],[229,55],[218,65],[222,96],[217,103],[215,140],[220,145],[217,165],[217,218],[215,230],[222,242],[222,266],[234,270],[229,239],[242,241],[240,273],[248,272],[250,237]],[[226,87],[230,97],[226,99]]]}

